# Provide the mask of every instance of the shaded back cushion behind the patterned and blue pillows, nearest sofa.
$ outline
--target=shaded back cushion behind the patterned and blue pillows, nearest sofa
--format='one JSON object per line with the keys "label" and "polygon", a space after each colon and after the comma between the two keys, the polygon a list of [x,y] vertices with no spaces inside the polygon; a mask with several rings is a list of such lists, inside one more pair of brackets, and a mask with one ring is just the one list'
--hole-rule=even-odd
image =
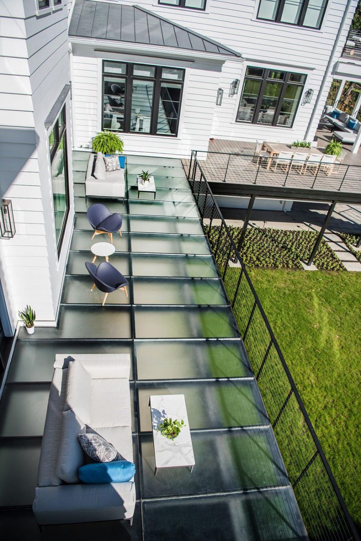
{"label": "shaded back cushion behind the patterned and blue pillows, nearest sofa", "polygon": [[56,473],[65,483],[79,483],[78,470],[84,465],[85,459],[78,435],[85,434],[85,430],[85,424],[72,410],[63,411]]}

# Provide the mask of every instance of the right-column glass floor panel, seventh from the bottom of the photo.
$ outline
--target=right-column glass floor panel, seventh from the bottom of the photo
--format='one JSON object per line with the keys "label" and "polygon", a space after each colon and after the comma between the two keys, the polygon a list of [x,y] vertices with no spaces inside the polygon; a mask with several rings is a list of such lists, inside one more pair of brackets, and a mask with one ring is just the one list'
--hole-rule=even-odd
{"label": "right-column glass floor panel, seventh from the bottom of the photo", "polygon": [[132,254],[133,276],[188,276],[189,278],[217,278],[218,272],[211,257],[196,255]]}

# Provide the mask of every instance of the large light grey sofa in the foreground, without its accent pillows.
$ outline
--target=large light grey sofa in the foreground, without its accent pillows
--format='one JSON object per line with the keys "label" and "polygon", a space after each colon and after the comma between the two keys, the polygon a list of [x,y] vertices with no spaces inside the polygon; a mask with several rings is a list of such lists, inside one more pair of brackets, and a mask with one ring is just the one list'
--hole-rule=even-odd
{"label": "large light grey sofa in the foreground, without its accent pillows", "polygon": [[[97,432],[133,461],[130,355],[56,355],[33,511],[39,525],[132,517],[135,484],[81,484],[78,434]],[[85,425],[85,427],[84,427]],[[66,479],[68,482],[65,482]]]}

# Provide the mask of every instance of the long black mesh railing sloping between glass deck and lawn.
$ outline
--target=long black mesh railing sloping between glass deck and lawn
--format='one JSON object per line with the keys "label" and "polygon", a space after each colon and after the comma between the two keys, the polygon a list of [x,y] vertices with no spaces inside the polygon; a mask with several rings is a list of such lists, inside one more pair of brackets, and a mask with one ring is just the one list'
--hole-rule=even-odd
{"label": "long black mesh railing sloping between glass deck and lawn", "polygon": [[188,179],[309,538],[359,541],[289,367],[196,156]]}

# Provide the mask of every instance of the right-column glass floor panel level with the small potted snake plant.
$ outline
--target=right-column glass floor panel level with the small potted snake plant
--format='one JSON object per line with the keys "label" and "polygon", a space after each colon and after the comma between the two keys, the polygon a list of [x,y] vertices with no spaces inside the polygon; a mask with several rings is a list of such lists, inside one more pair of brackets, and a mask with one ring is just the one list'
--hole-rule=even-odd
{"label": "right-column glass floor panel level with the small potted snake plant", "polygon": [[229,308],[135,308],[136,338],[238,338]]}

